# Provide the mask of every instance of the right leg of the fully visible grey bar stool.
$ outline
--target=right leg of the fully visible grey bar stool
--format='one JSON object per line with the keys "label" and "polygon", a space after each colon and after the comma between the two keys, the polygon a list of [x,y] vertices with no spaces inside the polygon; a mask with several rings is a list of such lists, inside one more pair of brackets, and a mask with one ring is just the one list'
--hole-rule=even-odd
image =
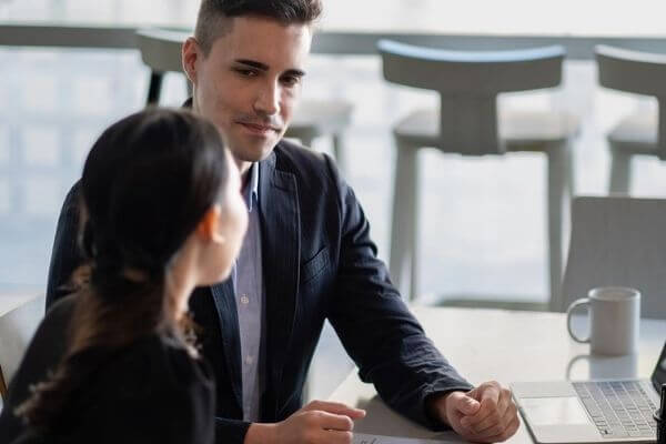
{"label": "right leg of the fully visible grey bar stool", "polygon": [[[548,150],[548,269],[551,284],[551,307],[557,310],[562,297],[562,233],[563,208],[568,194],[569,143]],[[566,199],[568,202],[568,199]]]}

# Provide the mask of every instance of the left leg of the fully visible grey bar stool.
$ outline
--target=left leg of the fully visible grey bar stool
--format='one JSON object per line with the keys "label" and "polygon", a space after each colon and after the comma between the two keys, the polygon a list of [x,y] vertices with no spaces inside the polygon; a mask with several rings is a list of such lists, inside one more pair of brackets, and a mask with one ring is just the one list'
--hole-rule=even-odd
{"label": "left leg of the fully visible grey bar stool", "polygon": [[[418,171],[417,149],[397,145],[391,225],[391,279],[403,297],[418,294],[416,259],[418,255]],[[408,279],[408,282],[406,281]],[[408,291],[408,293],[407,293]]]}

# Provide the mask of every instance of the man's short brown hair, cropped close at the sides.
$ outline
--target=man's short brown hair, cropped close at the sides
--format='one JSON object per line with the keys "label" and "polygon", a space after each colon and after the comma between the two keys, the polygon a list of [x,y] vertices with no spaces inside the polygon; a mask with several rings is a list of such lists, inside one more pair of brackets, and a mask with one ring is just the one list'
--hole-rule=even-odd
{"label": "man's short brown hair, cropped close at the sides", "polygon": [[284,24],[310,24],[321,14],[321,0],[201,0],[194,37],[208,56],[215,39],[225,32],[228,19],[259,16]]}

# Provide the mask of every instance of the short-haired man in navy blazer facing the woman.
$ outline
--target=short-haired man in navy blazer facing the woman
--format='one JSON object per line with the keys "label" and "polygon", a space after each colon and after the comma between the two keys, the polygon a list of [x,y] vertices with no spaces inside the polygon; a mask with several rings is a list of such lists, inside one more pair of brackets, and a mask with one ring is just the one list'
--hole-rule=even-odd
{"label": "short-haired man in navy blazer facing the woman", "polygon": [[[473,387],[436,351],[376,259],[370,225],[327,158],[282,139],[300,95],[320,0],[203,0],[183,46],[189,103],[219,128],[243,174],[250,225],[233,276],[191,301],[216,376],[220,443],[350,443],[364,412],[301,407],[329,319],[360,375],[402,414],[464,438],[518,427],[511,393]],[[80,263],[77,185],[63,205],[48,303]],[[112,418],[110,418],[112,421]]]}

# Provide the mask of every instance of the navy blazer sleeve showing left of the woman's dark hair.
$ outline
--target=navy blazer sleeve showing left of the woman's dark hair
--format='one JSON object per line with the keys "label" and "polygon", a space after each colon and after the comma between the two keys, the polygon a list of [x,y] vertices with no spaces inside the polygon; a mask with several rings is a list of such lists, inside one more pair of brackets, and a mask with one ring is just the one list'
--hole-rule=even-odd
{"label": "navy blazer sleeve showing left of the woman's dark hair", "polygon": [[58,218],[47,281],[47,310],[56,301],[71,293],[71,290],[67,289],[67,284],[72,272],[83,262],[77,241],[79,232],[79,194],[80,183],[77,182],[67,194]]}

